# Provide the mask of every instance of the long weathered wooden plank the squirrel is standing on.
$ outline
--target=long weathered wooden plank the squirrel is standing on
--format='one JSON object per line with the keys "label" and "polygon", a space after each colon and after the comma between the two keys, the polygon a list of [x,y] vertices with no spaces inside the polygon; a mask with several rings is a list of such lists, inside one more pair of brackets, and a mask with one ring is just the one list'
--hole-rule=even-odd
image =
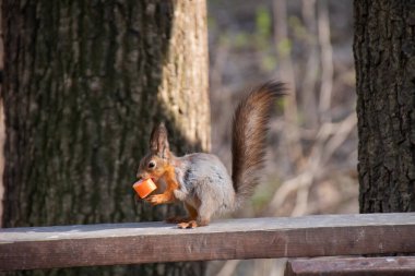
{"label": "long weathered wooden plank the squirrel is standing on", "polygon": [[0,269],[198,260],[415,253],[415,213],[0,230]]}

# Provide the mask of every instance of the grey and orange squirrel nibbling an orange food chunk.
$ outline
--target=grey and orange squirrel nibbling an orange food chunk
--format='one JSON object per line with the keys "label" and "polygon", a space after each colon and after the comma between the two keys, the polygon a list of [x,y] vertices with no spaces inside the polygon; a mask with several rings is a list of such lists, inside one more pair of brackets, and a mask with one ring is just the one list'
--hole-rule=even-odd
{"label": "grey and orange squirrel nibbling an orange food chunk", "polygon": [[137,177],[152,178],[157,187],[163,179],[166,189],[144,200],[153,205],[183,202],[188,216],[166,220],[179,228],[206,226],[215,213],[235,211],[259,183],[271,108],[285,91],[283,83],[271,81],[239,103],[233,121],[232,177],[213,154],[175,156],[164,123],[156,125],[150,137],[150,153],[141,159]]}

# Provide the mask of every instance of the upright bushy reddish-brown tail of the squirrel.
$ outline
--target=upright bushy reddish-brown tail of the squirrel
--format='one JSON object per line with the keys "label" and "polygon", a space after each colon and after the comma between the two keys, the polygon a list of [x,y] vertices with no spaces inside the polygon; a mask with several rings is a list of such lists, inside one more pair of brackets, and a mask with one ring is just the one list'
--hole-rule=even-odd
{"label": "upright bushy reddish-brown tail of the squirrel", "polygon": [[232,180],[237,206],[253,193],[264,164],[268,122],[275,99],[285,95],[284,84],[268,82],[238,105],[233,124]]}

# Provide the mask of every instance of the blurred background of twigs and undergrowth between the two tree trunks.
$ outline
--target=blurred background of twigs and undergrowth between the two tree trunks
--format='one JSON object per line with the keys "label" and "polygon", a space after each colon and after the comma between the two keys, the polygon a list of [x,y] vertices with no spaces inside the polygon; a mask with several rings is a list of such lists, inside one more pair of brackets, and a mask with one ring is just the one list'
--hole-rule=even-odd
{"label": "blurred background of twigs and undergrowth between the two tree trunks", "polygon": [[[358,213],[353,1],[210,0],[212,152],[230,166],[232,111],[287,83],[263,182],[235,217]],[[284,107],[284,109],[282,109]],[[282,275],[284,260],[211,262],[208,275]]]}

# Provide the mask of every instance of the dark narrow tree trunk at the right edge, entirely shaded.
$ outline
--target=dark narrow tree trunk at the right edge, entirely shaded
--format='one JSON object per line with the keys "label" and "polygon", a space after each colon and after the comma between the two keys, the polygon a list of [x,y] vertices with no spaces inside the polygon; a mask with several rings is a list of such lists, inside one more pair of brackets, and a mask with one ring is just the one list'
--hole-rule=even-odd
{"label": "dark narrow tree trunk at the right edge, entirely shaded", "polygon": [[361,213],[415,211],[415,4],[355,0]]}

